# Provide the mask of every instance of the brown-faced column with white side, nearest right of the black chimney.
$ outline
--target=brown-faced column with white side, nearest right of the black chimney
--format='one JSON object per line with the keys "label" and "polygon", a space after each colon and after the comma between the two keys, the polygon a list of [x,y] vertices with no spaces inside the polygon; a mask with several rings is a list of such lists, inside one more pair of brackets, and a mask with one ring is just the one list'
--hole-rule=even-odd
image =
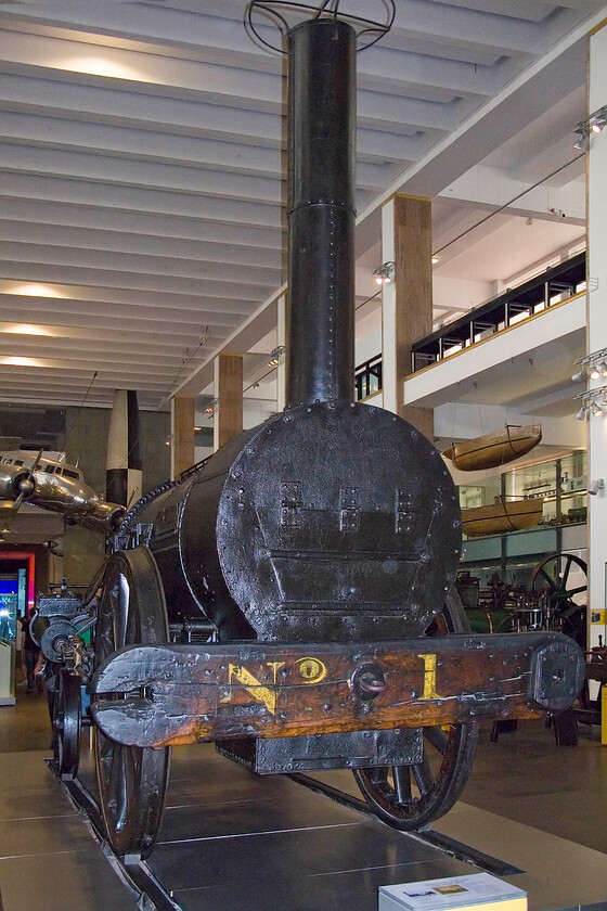
{"label": "brown-faced column with white side, nearest right of the black chimney", "polygon": [[431,203],[393,196],[382,210],[382,258],[395,264],[395,281],[383,286],[384,408],[404,418],[434,440],[434,413],[403,401],[411,371],[411,345],[431,332]]}

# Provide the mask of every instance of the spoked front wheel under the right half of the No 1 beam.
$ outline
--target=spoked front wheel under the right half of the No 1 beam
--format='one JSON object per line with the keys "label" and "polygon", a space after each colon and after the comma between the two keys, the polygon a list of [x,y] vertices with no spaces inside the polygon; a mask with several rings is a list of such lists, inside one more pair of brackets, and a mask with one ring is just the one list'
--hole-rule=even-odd
{"label": "spoked front wheel under the right half of the No 1 beam", "polygon": [[[460,599],[452,593],[427,634],[444,636],[465,632],[468,628]],[[422,730],[424,755],[419,764],[354,771],[367,804],[395,829],[422,829],[448,812],[462,793],[473,766],[478,724]]]}

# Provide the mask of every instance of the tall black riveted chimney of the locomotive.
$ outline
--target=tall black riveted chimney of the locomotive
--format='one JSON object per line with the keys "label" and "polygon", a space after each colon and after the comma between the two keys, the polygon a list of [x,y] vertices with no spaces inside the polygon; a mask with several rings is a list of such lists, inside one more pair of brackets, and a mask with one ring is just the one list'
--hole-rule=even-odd
{"label": "tall black riveted chimney of the locomotive", "polygon": [[356,33],[317,18],[288,33],[287,405],[354,385]]}

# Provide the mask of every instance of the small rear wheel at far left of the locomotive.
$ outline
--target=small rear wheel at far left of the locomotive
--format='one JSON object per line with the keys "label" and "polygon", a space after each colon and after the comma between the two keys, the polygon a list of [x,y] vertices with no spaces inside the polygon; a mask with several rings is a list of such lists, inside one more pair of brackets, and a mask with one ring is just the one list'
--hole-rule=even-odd
{"label": "small rear wheel at far left of the locomotive", "polygon": [[53,766],[63,780],[75,779],[80,761],[82,713],[80,679],[60,670],[53,678],[54,691],[49,702],[53,731]]}

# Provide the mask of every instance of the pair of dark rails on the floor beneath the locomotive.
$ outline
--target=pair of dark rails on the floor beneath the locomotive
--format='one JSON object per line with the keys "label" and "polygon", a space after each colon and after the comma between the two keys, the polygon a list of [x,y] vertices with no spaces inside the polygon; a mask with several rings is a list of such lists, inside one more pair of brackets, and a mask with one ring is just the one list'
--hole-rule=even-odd
{"label": "pair of dark rails on the floor beneath the locomotive", "polygon": [[[48,759],[47,765],[78,810],[79,814],[88,823],[108,863],[133,896],[140,911],[183,911],[183,907],[178,904],[171,898],[163,883],[154,875],[144,860],[141,860],[139,857],[118,857],[114,854],[104,835],[103,821],[99,805],[94,796],[85,786],[80,779],[62,779],[62,777],[57,773],[52,759]],[[310,775],[294,773],[288,775],[288,778],[302,787],[308,787],[317,794],[322,794],[330,799],[335,800],[341,806],[349,807],[350,809],[365,816],[367,819],[372,819],[375,822],[386,825],[386,823],[383,823],[382,820],[375,816],[373,810],[364,803],[364,800],[361,800],[358,797],[346,794],[344,791],[339,791],[338,788],[333,787],[330,784],[325,784],[318,779],[313,779]],[[498,858],[483,854],[469,845],[464,845],[462,842],[450,838],[448,835],[442,835],[439,832],[432,832],[429,826],[417,832],[403,832],[402,834],[413,838],[414,841],[431,845],[443,854],[453,857],[456,860],[469,863],[487,873],[492,873],[494,876],[512,876],[516,873],[525,872],[520,868],[514,867],[512,863],[507,863],[506,861],[499,860]]]}

